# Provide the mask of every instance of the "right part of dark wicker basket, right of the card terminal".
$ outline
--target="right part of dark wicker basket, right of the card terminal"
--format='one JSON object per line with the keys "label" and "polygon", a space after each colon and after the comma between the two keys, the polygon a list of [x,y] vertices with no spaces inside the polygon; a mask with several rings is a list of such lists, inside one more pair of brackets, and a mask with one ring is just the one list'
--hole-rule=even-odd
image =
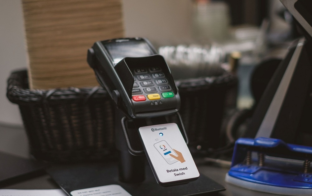
{"label": "right part of dark wicker basket, right of the card terminal", "polygon": [[[192,152],[225,144],[221,132],[222,120],[225,109],[236,106],[237,82],[235,75],[225,71],[218,76],[176,82],[181,97],[179,112]],[[229,98],[234,100],[230,104]]]}

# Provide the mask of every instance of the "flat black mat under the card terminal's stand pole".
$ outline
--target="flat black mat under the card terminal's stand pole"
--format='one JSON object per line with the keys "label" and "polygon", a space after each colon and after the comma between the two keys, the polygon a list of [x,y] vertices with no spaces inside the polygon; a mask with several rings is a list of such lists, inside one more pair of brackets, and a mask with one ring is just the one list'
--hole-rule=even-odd
{"label": "flat black mat under the card terminal's stand pole", "polygon": [[60,185],[63,190],[70,195],[73,190],[104,186],[109,184],[119,184],[131,195],[195,195],[216,193],[225,188],[207,178],[203,174],[188,184],[172,187],[162,187],[157,184],[154,174],[149,166],[145,167],[146,179],[142,183],[122,183],[118,180],[117,163],[92,163],[63,165],[50,168],[47,172]]}

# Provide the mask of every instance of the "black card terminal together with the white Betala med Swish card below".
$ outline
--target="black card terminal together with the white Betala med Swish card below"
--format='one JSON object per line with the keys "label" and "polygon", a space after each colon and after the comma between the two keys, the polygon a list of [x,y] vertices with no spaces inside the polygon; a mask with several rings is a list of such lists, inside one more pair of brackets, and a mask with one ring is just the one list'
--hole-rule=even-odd
{"label": "black card terminal together with the white Betala med Swish card below", "polygon": [[129,138],[129,134],[136,134],[159,184],[172,186],[196,180],[199,173],[186,135],[183,137],[179,126],[164,118],[180,108],[178,89],[167,63],[151,43],[144,38],[95,42],[88,50],[87,61],[123,112],[121,123],[131,121],[139,132],[123,126],[129,152],[137,155],[131,145],[138,141]]}

